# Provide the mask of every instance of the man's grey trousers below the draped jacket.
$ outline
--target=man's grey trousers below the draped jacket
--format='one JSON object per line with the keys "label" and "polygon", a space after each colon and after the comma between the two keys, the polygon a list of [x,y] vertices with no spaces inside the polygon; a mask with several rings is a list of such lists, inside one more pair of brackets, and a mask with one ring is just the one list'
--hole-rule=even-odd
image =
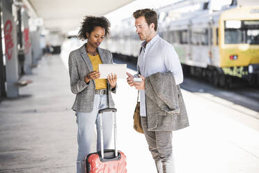
{"label": "man's grey trousers below the draped jacket", "polygon": [[[149,151],[155,160],[157,172],[175,172],[172,131],[148,131],[148,121],[144,116],[141,116],[141,125],[148,142]],[[159,166],[159,163],[161,163],[161,166]]]}

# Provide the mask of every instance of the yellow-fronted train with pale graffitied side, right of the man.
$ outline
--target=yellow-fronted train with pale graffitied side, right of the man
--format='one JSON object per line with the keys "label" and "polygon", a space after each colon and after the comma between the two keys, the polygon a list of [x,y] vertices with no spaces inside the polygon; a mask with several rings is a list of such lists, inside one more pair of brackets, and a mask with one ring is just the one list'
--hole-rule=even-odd
{"label": "yellow-fronted train with pale graffitied side, right of the man", "polygon": [[185,73],[215,86],[259,84],[259,7],[198,10],[160,28]]}

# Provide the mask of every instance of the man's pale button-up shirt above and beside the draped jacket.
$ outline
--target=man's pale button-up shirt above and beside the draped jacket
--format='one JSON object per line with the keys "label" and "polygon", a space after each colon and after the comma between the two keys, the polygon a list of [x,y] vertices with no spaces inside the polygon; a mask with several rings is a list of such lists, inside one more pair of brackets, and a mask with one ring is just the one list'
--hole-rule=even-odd
{"label": "man's pale button-up shirt above and beside the draped jacket", "polygon": [[[166,42],[166,40],[157,34],[147,44],[146,41],[141,43],[141,47],[137,66],[143,77],[148,77],[158,72],[166,73],[170,71],[175,77],[175,84],[182,83],[182,66],[173,45]],[[139,97],[140,114],[141,116],[146,116],[145,90],[140,90]]]}

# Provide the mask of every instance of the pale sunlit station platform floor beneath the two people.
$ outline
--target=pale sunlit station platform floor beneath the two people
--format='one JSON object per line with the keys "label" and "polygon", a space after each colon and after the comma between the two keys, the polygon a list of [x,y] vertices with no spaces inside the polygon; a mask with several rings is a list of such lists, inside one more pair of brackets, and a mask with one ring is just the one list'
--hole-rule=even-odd
{"label": "pale sunlit station platform floor beneath the two people", "polygon": [[[22,80],[33,83],[20,88],[19,98],[0,103],[0,173],[75,172],[77,123],[70,109],[74,95],[61,57],[42,57],[33,75]],[[222,100],[207,99],[210,96],[185,90],[182,94],[190,126],[173,133],[177,173],[258,173],[259,119]],[[113,95],[118,149],[127,156],[129,173],[155,173],[145,137],[132,127],[136,95],[125,80],[118,80]]]}

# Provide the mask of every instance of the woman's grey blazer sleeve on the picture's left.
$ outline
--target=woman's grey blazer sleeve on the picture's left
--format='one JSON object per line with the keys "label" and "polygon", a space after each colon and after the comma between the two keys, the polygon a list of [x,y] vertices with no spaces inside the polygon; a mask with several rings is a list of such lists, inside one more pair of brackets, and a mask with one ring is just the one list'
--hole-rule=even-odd
{"label": "woman's grey blazer sleeve on the picture's left", "polygon": [[71,91],[74,94],[80,93],[88,84],[80,79],[78,69],[77,69],[77,61],[76,57],[74,56],[73,52],[70,52],[69,59],[68,59],[68,68],[69,68],[69,75],[70,75],[70,87]]}

